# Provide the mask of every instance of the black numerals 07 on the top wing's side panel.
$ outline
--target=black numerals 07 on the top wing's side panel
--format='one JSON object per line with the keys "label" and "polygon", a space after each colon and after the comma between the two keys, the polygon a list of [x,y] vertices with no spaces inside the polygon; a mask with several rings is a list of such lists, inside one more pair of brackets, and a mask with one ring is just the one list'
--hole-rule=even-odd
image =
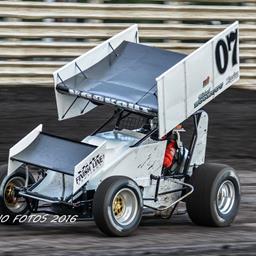
{"label": "black numerals 07 on the top wing's side panel", "polygon": [[[224,74],[228,67],[229,62],[229,52],[232,51],[232,66],[235,66],[237,61],[237,29],[231,31],[229,35],[226,36],[226,40],[220,39],[216,44],[215,48],[215,59],[218,71],[220,74]],[[231,49],[233,43],[233,49]],[[223,59],[221,58],[221,53]]]}

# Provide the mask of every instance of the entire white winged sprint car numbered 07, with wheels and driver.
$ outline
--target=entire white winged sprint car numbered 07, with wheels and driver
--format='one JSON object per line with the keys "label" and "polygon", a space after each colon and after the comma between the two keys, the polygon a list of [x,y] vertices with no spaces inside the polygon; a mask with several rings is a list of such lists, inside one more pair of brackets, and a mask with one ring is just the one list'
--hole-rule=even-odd
{"label": "entire white winged sprint car numbered 07, with wheels and driver", "polygon": [[133,25],[54,72],[59,120],[102,105],[111,116],[82,141],[39,125],[14,145],[0,170],[0,214],[9,224],[31,213],[76,215],[127,236],[142,216],[171,217],[183,201],[195,224],[230,225],[239,180],[232,167],[205,163],[202,107],[239,79],[238,44],[238,22],[188,56],[139,43]]}

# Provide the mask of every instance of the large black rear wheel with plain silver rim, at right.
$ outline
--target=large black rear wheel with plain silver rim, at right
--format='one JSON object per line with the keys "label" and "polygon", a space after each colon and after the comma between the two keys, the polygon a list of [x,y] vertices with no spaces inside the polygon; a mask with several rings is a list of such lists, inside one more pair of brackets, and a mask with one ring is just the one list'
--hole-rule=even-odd
{"label": "large black rear wheel with plain silver rim, at right", "polygon": [[187,199],[187,211],[195,224],[225,227],[233,222],[240,204],[240,184],[233,168],[203,164],[189,183],[195,190]]}

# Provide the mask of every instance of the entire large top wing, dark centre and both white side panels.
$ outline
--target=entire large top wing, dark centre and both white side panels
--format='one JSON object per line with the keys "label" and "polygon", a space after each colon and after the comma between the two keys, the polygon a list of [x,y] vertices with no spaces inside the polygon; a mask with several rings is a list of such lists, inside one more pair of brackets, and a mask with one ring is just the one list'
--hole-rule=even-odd
{"label": "entire large top wing, dark centre and both white side panels", "polygon": [[54,73],[59,120],[96,104],[158,115],[159,137],[239,79],[238,22],[186,57],[138,44],[133,25]]}

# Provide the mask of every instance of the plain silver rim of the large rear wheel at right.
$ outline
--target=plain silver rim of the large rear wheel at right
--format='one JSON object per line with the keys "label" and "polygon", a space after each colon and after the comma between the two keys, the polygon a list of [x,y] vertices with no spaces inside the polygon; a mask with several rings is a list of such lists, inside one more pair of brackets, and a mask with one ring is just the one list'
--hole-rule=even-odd
{"label": "plain silver rim of the large rear wheel at right", "polygon": [[220,213],[228,214],[235,202],[235,187],[232,181],[226,180],[217,193],[217,207]]}

